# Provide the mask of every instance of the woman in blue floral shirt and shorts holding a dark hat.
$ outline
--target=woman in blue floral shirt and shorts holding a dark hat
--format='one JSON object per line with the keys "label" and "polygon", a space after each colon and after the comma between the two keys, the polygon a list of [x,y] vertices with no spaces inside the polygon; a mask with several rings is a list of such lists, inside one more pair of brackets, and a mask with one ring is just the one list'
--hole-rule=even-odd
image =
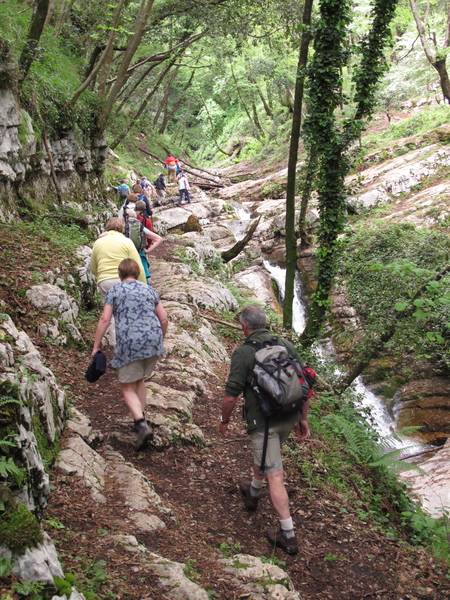
{"label": "woman in blue floral shirt and shorts holding a dark hat", "polygon": [[153,431],[145,419],[147,388],[144,377],[152,374],[158,357],[164,354],[163,338],[168,326],[158,294],[148,285],[136,281],[140,270],[135,260],[127,259],[119,264],[120,282],[106,295],[91,353],[94,357],[100,350],[114,315],[117,344],[111,366],[117,369],[123,399],[133,415],[137,434],[135,450],[143,450],[153,438]]}

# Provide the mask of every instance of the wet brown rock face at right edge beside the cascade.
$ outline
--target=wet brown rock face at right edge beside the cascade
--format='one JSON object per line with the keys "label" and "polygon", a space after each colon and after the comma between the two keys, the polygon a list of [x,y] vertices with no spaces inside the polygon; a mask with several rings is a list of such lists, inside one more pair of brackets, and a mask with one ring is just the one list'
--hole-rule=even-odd
{"label": "wet brown rock face at right edge beside the cascade", "polygon": [[394,398],[394,414],[397,428],[421,426],[414,437],[442,443],[450,437],[450,379],[410,381]]}

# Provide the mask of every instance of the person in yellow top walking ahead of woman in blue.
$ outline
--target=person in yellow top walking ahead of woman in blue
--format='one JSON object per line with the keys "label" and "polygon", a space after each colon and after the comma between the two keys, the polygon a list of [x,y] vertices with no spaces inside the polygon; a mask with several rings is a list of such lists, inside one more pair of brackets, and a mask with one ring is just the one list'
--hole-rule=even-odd
{"label": "person in yellow top walking ahead of woman in blue", "polygon": [[[91,254],[91,271],[97,277],[98,291],[102,300],[113,285],[119,283],[117,268],[125,258],[132,258],[140,263],[139,254],[131,240],[124,235],[125,223],[123,219],[113,218],[106,223],[106,233],[99,238]],[[144,269],[141,267],[139,280],[145,283]],[[114,346],[116,333],[114,319],[111,319],[109,328],[109,343]]]}

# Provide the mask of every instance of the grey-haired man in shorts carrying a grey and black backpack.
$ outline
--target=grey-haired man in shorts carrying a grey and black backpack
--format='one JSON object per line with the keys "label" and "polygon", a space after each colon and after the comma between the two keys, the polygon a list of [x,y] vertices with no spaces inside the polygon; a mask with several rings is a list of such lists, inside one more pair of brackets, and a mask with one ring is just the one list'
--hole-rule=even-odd
{"label": "grey-haired man in shorts carrying a grey and black backpack", "polygon": [[231,414],[243,393],[247,432],[252,437],[253,477],[239,482],[242,500],[248,510],[256,510],[266,479],[280,522],[279,529],[267,531],[267,538],[274,547],[296,554],[298,542],[284,486],[281,446],[293,430],[299,442],[309,437],[308,409],[315,374],[303,365],[293,344],[268,331],[266,320],[264,309],[256,304],[241,313],[246,339],[231,357],[219,431],[228,437]]}

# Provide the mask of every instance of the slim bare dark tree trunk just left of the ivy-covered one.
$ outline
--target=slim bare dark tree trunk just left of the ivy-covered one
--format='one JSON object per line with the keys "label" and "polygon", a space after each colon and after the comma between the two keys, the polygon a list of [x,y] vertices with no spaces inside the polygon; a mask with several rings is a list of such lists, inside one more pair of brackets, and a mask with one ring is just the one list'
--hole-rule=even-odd
{"label": "slim bare dark tree trunk just left of the ivy-covered one", "polygon": [[292,327],[292,303],[294,300],[294,278],[297,267],[297,238],[295,237],[295,178],[297,171],[298,143],[302,119],[303,88],[305,67],[308,62],[308,48],[311,40],[310,25],[313,0],[306,0],[303,9],[303,25],[306,31],[298,57],[295,82],[294,114],[292,116],[291,141],[289,146],[288,178],[286,188],[286,284],[283,305],[283,326]]}

